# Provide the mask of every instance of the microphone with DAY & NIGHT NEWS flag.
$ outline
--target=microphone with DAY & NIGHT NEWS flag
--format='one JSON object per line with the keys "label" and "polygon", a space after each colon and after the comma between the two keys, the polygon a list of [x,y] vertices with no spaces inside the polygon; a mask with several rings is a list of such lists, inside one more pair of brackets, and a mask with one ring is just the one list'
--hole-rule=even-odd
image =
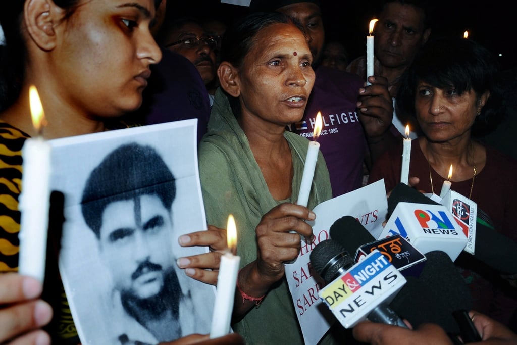
{"label": "microphone with DAY & NIGHT NEWS flag", "polygon": [[387,306],[406,279],[379,251],[354,265],[347,250],[326,239],[314,247],[310,260],[327,283],[318,295],[345,328],[365,319],[407,328]]}

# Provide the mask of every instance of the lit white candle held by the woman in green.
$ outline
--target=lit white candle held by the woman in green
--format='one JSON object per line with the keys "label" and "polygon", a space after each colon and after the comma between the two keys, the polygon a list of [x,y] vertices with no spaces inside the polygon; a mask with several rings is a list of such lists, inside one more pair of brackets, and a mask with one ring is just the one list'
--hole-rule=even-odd
{"label": "lit white candle held by the woman in green", "polygon": [[312,132],[313,141],[309,142],[307,156],[305,157],[305,166],[303,167],[303,175],[301,176],[300,191],[298,192],[298,205],[307,206],[309,202],[309,194],[311,192],[312,178],[314,177],[314,169],[318,160],[318,152],[320,152],[320,143],[316,140],[320,136],[322,130],[322,114],[318,111],[316,121],[314,123],[314,131]]}

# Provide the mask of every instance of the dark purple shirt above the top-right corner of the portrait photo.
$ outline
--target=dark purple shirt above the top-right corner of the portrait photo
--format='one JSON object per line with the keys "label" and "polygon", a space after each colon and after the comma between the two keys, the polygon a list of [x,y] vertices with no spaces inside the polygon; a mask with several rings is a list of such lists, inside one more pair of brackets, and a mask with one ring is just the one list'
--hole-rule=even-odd
{"label": "dark purple shirt above the top-right corner of the portrait photo", "polygon": [[146,125],[197,118],[197,141],[207,130],[210,102],[199,71],[186,57],[162,49],[138,110]]}

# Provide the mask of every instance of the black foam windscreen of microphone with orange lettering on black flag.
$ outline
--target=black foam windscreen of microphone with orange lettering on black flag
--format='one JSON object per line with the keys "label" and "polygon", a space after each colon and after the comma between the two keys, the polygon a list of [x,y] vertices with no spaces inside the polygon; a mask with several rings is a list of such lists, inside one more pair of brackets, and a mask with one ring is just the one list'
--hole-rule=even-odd
{"label": "black foam windscreen of microphone with orange lettering on black flag", "polygon": [[375,241],[375,237],[352,216],[344,216],[336,220],[330,227],[329,234],[330,238],[352,255],[360,246]]}

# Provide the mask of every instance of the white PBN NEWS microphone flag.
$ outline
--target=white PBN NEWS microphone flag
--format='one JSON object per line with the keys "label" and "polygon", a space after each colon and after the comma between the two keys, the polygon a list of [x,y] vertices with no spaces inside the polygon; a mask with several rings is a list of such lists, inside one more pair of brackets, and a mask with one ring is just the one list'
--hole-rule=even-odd
{"label": "white PBN NEWS microphone flag", "polygon": [[379,238],[400,234],[420,250],[446,252],[456,260],[467,237],[444,205],[399,202]]}

